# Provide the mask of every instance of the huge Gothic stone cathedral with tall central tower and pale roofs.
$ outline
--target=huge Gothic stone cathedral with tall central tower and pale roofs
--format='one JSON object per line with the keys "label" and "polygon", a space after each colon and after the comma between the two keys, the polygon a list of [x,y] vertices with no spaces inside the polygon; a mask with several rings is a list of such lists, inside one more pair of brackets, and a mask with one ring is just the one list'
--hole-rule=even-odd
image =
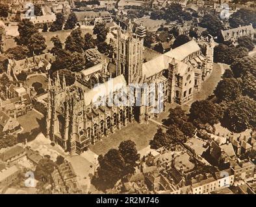
{"label": "huge Gothic stone cathedral with tall central tower and pale roofs", "polygon": [[144,62],[140,26],[118,28],[114,74],[106,61],[65,78],[48,82],[47,137],[71,154],[80,154],[128,122],[148,122],[166,103],[192,99],[212,71],[212,41],[188,43]]}

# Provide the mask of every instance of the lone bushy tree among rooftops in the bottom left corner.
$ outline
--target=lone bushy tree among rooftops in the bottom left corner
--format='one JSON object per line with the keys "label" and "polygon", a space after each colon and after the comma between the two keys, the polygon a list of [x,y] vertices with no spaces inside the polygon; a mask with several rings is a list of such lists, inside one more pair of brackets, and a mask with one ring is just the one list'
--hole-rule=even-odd
{"label": "lone bushy tree among rooftops in the bottom left corner", "polygon": [[34,171],[34,178],[36,180],[47,180],[51,176],[55,168],[55,164],[49,155],[39,160],[38,165]]}

